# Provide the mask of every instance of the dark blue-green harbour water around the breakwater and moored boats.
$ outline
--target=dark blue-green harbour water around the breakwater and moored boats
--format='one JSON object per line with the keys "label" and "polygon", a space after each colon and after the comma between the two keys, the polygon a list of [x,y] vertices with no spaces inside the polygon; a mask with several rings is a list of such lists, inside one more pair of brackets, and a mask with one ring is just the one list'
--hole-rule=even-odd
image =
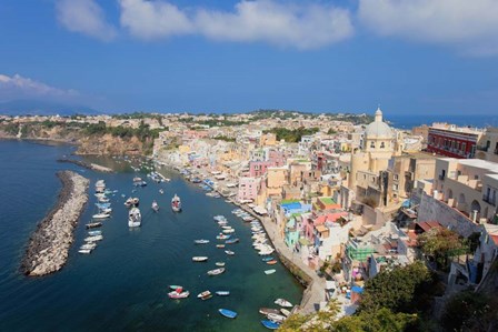
{"label": "dark blue-green harbour water around the breakwater and moored boats", "polygon": [[[133,190],[137,173],[94,173],[80,167],[58,163],[70,153],[66,145],[47,147],[29,142],[0,142],[0,330],[1,331],[266,331],[260,325],[260,306],[275,306],[272,300],[286,298],[299,303],[302,289],[278,263],[265,264],[251,247],[250,227],[230,213],[233,205],[205,195],[196,185],[175,172],[172,181],[138,189],[142,227],[127,225],[124,198]],[[110,162],[109,160],[101,161]],[[44,278],[19,273],[24,245],[36,224],[56,203],[60,182],[57,170],[72,169],[91,180],[104,179],[108,188],[119,190],[111,198],[113,214],[103,221],[103,241],[90,255],[77,252],[87,235],[84,223],[94,210],[94,197],[77,227],[76,243],[67,265]],[[141,174],[146,178],[145,174]],[[159,193],[159,189],[165,194]],[[171,197],[182,199],[182,213],[169,208]],[[161,207],[150,209],[152,200]],[[212,220],[225,214],[236,229],[240,243],[231,244],[235,256],[217,249],[219,227]],[[195,245],[195,239],[209,239]],[[208,255],[207,263],[192,263],[191,256]],[[225,261],[227,271],[217,276],[206,272],[215,262]],[[277,269],[271,275],[263,270]],[[181,284],[189,299],[168,299],[168,285]],[[205,290],[229,290],[230,296],[201,301]],[[219,308],[239,313],[235,320],[222,318]]]}

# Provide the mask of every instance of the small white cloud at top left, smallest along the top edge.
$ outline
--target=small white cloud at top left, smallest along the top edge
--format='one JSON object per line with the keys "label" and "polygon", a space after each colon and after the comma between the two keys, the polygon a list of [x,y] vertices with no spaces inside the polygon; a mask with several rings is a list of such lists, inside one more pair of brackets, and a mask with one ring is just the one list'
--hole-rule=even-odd
{"label": "small white cloud at top left, smallest along the top edge", "polygon": [[114,27],[106,21],[102,8],[94,0],[59,0],[56,10],[59,22],[70,31],[103,41],[117,36]]}

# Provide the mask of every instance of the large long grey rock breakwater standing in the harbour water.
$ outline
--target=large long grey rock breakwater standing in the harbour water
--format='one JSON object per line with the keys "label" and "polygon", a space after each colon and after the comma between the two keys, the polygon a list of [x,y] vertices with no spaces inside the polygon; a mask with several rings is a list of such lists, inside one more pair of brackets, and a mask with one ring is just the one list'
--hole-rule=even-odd
{"label": "large long grey rock breakwater standing in the harbour water", "polygon": [[38,224],[21,263],[21,271],[28,275],[44,275],[63,266],[74,227],[88,201],[88,179],[71,171],[61,171],[57,175],[62,181],[59,201]]}

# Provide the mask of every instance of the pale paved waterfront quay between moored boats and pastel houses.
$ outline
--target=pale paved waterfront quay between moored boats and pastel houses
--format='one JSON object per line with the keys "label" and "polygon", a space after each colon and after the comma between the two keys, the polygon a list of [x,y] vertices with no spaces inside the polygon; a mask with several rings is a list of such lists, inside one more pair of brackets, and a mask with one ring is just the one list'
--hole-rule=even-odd
{"label": "pale paved waterfront quay between moored boats and pastel houses", "polygon": [[[177,165],[170,163],[163,163],[163,167],[178,172]],[[183,181],[186,181],[183,179]],[[221,190],[212,188],[213,191],[218,192],[222,198],[227,198]],[[230,200],[230,199],[229,199]],[[256,214],[249,207],[245,204],[239,204],[232,200],[230,202],[246,212],[250,213],[252,217],[258,219],[265,228],[271,245],[275,248],[280,262],[286,266],[286,269],[298,280],[298,282],[305,286],[302,292],[301,302],[292,309],[292,313],[308,314],[318,311],[319,303],[325,301],[325,280],[319,278],[316,273],[312,273],[311,269],[306,266],[299,256],[295,256],[289,248],[283,243],[282,239],[275,237],[276,234],[276,223],[270,217],[261,217]],[[273,235],[272,235],[273,234]],[[308,270],[308,271],[307,271]],[[323,296],[321,296],[323,294]],[[322,299],[321,299],[322,298]]]}

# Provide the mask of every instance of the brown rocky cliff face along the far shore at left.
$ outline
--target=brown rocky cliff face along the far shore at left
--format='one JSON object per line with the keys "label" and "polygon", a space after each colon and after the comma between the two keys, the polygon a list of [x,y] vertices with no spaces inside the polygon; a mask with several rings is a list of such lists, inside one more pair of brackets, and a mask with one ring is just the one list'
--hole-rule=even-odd
{"label": "brown rocky cliff face along the far shore at left", "polygon": [[149,154],[152,140],[140,141],[137,137],[121,138],[112,134],[88,134],[81,128],[40,124],[6,128],[0,124],[0,139],[51,140],[78,145],[78,154]]}

